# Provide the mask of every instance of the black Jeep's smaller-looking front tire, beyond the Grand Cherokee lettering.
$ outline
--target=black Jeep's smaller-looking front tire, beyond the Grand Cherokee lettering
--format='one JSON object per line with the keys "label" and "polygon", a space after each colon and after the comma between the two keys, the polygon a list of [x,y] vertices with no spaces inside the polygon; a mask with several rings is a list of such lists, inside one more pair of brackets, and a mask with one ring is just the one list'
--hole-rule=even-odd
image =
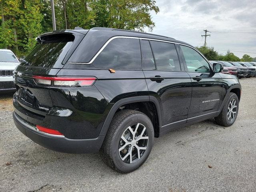
{"label": "black Jeep's smaller-looking front tire, beyond the Grand Cherokee lettering", "polygon": [[[236,103],[235,103],[236,107],[234,107],[232,111],[236,110],[236,113],[233,114],[233,119],[232,119],[232,114],[230,114],[231,117],[228,116],[228,111],[229,111],[228,108],[230,108],[230,102],[232,102],[233,100],[236,101]],[[231,126],[236,121],[238,109],[239,109],[239,100],[238,100],[237,95],[234,93],[229,93],[228,97],[226,98],[226,101],[224,103],[224,106],[222,108],[222,111],[215,118],[216,123],[221,126],[225,126],[225,127]]]}

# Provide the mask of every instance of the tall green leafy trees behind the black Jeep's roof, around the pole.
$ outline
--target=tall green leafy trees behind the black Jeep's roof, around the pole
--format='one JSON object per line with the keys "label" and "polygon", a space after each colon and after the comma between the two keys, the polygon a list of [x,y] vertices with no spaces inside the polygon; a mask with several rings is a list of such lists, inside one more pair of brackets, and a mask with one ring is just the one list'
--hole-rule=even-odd
{"label": "tall green leafy trees behind the black Jeep's roof, around the pole", "polygon": [[[155,26],[150,12],[159,12],[155,0],[54,0],[56,28],[112,27],[128,30]],[[0,48],[21,56],[35,37],[52,31],[50,0],[0,0]]]}

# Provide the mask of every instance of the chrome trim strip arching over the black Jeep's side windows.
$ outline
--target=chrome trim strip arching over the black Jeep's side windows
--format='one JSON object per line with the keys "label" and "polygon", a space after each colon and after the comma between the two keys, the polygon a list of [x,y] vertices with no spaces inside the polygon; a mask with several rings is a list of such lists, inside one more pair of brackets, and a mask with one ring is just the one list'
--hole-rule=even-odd
{"label": "chrome trim strip arching over the black Jeep's side windows", "polygon": [[98,52],[93,56],[93,58],[89,61],[89,62],[68,62],[68,64],[92,64],[94,62],[94,60],[98,57],[98,55],[104,50],[104,48],[114,39],[117,38],[126,38],[126,39],[140,39],[140,40],[150,40],[150,41],[160,41],[160,42],[166,42],[166,43],[173,43],[173,44],[178,44],[178,45],[183,45],[183,46],[187,46],[190,47],[192,49],[194,49],[196,52],[198,52],[203,58],[204,60],[206,60],[206,62],[210,65],[210,62],[206,59],[206,57],[200,53],[196,48],[194,48],[193,46],[187,45],[187,44],[183,44],[183,43],[179,43],[179,42],[173,42],[173,41],[166,41],[166,40],[160,40],[160,39],[152,39],[152,38],[140,38],[140,37],[131,37],[131,36],[114,36],[112,38],[110,38],[109,40],[107,40],[106,43],[104,43],[104,45],[100,48],[100,50],[98,50]]}

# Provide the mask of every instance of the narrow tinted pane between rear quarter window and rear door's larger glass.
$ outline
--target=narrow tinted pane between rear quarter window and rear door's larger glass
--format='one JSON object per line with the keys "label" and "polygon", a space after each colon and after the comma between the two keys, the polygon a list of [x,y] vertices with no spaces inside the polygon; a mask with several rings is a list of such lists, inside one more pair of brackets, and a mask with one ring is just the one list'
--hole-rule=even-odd
{"label": "narrow tinted pane between rear quarter window and rear door's larger glass", "polygon": [[142,68],[143,69],[156,69],[154,57],[148,40],[140,41],[141,54],[142,54]]}

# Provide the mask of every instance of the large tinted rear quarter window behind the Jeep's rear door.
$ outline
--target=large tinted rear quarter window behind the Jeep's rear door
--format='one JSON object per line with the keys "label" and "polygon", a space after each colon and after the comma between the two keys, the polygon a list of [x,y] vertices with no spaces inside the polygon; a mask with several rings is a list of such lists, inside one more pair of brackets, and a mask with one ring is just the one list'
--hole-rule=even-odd
{"label": "large tinted rear quarter window behind the Jeep's rear door", "polygon": [[113,39],[92,65],[96,68],[141,69],[140,41],[130,38]]}

